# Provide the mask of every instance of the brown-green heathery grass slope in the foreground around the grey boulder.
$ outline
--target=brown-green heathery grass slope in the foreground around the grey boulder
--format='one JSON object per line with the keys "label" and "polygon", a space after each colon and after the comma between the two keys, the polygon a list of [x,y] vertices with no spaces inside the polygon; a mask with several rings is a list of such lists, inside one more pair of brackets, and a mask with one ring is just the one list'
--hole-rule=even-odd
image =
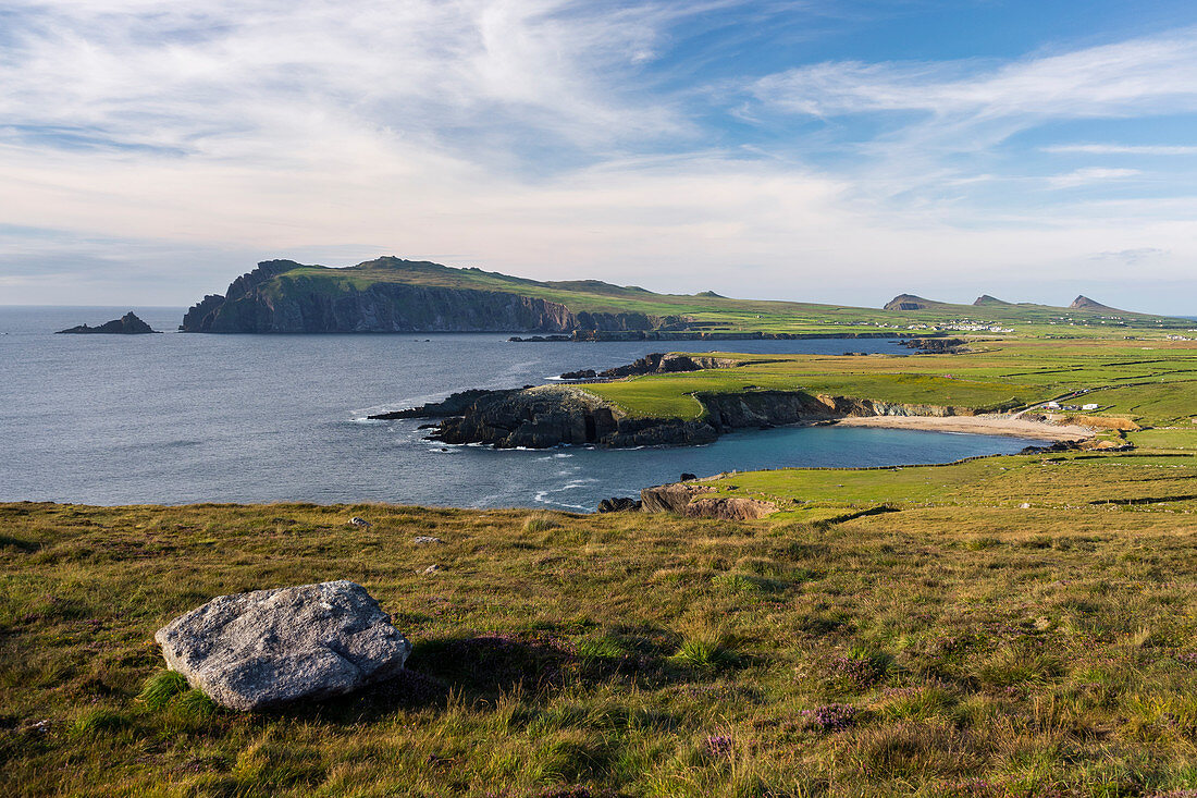
{"label": "brown-green heathery grass slope in the foreground around the grey boulder", "polygon": [[[1184,474],[1161,471],[1166,460],[1080,474],[1088,461],[1003,458],[940,470],[930,486],[917,468],[886,483],[812,472],[808,489],[832,490],[834,473],[861,507],[894,491],[911,500],[818,524],[0,506],[0,785],[11,796],[1195,787],[1197,586],[1179,578],[1197,567],[1192,504],[1111,509],[1071,489],[1011,504],[1045,479],[1100,496],[1101,473],[1114,492],[1172,491]],[[348,527],[351,515],[375,526]],[[417,534],[445,543],[414,546]],[[432,563],[443,570],[423,574]],[[394,613],[415,643],[415,676],[253,715],[190,694],[138,697],[162,672],[153,630],[175,615],[214,594],[340,578]],[[564,792],[579,785],[589,792]]]}

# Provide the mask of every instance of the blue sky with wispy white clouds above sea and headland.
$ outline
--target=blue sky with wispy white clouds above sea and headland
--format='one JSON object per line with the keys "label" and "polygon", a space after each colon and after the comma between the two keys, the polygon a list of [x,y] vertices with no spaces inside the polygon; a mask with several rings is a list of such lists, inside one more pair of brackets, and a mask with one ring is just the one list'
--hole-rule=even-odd
{"label": "blue sky with wispy white clouds above sea and headland", "polygon": [[0,0],[0,304],[379,255],[1197,314],[1191,0]]}

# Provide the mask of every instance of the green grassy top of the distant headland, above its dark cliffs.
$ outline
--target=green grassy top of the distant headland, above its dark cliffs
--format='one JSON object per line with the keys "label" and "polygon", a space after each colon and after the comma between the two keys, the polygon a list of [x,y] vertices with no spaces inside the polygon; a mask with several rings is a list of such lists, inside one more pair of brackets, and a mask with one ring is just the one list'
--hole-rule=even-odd
{"label": "green grassy top of the distant headland, above its dark cliffs", "polygon": [[[285,291],[299,284],[304,290],[364,290],[373,283],[406,283],[438,288],[506,291],[565,304],[573,312],[644,313],[686,315],[713,324],[712,330],[731,332],[876,332],[879,325],[907,327],[934,325],[948,319],[1016,325],[1022,332],[1067,337],[1107,335],[1111,330],[1185,330],[1191,321],[1144,314],[1111,316],[1108,312],[1068,310],[1032,304],[974,308],[940,303],[934,310],[897,313],[875,308],[733,300],[701,295],[652,294],[598,280],[537,282],[476,268],[452,268],[437,264],[382,258],[347,268],[304,266],[271,280],[263,290]],[[1117,325],[1126,324],[1128,327]]]}

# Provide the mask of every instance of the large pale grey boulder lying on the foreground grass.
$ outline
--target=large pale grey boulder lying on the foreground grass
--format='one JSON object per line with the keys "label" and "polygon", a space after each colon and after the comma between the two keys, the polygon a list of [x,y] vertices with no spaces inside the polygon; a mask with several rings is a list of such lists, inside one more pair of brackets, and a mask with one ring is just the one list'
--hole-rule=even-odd
{"label": "large pale grey boulder lying on the foreground grass", "polygon": [[378,601],[345,580],[220,596],[154,640],[171,670],[232,709],[351,693],[394,676],[412,652]]}

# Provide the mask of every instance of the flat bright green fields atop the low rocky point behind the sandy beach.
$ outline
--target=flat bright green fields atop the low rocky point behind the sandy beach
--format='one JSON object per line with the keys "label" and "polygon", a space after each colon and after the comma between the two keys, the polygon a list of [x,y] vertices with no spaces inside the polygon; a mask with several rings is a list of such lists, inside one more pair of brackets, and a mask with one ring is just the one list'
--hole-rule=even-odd
{"label": "flat bright green fields atop the low rocky point behind the sandy beach", "polygon": [[[849,346],[850,347],[850,344]],[[1193,341],[1011,339],[976,344],[967,355],[826,357],[734,356],[743,365],[650,375],[588,385],[585,389],[633,416],[694,418],[695,392],[772,388],[895,403],[991,409],[1029,404],[1074,391],[1071,400],[1143,425],[1187,424],[1197,415],[1197,344]]]}

